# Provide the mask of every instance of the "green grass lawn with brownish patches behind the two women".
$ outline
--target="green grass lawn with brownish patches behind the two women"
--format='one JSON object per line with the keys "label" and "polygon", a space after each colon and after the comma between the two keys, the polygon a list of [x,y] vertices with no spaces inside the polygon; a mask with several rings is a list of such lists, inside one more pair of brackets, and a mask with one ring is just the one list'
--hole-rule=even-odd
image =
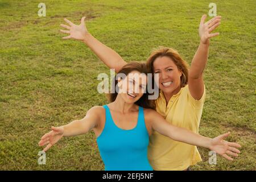
{"label": "green grass lawn with brownish patches behind the two women", "polygon": [[[41,2],[41,1],[40,1]],[[177,49],[191,63],[199,45],[197,27],[209,1],[39,1],[0,2],[0,169],[102,170],[93,133],[64,138],[38,165],[40,137],[50,127],[84,117],[94,105],[107,103],[97,92],[97,75],[109,69],[81,42],[62,40],[59,24],[86,15],[92,35],[126,61],[144,61],[153,48]],[[222,15],[220,36],[210,41],[205,69],[207,99],[200,134],[228,138],[242,145],[234,162],[220,156],[193,170],[256,169],[255,7],[253,0],[214,1]]]}

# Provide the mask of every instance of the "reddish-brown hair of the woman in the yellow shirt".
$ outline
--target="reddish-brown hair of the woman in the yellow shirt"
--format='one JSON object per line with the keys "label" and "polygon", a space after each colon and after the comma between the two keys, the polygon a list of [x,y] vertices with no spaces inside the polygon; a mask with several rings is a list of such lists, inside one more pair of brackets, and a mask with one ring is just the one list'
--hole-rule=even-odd
{"label": "reddish-brown hair of the woman in the yellow shirt", "polygon": [[172,61],[174,61],[174,64],[177,66],[179,71],[181,71],[182,75],[180,77],[180,87],[184,87],[188,83],[188,64],[186,61],[184,61],[179,53],[172,48],[168,47],[159,47],[159,49],[156,49],[153,51],[147,59],[147,67],[150,70],[151,73],[154,73],[154,61],[158,57],[169,57]]}

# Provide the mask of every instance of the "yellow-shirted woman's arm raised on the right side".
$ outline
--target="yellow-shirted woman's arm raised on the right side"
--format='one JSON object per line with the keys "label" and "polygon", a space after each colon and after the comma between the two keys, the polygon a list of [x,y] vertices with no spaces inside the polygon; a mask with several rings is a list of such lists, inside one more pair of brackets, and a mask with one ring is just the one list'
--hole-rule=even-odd
{"label": "yellow-shirted woman's arm raised on the right side", "polygon": [[188,88],[192,97],[200,100],[204,93],[203,72],[207,65],[209,39],[218,36],[219,33],[211,32],[220,25],[221,16],[216,16],[204,23],[207,15],[203,15],[199,26],[200,44],[195,56],[191,62],[191,68],[188,72]]}

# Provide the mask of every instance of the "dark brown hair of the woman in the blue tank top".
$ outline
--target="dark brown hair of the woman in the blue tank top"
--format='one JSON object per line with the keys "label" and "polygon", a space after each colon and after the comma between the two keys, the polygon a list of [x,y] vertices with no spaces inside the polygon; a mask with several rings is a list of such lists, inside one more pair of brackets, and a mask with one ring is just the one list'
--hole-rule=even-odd
{"label": "dark brown hair of the woman in the blue tank top", "polygon": [[[126,65],[124,65],[123,68],[118,73],[123,73],[127,76],[132,71],[138,71],[140,73],[145,73],[147,75],[147,73],[148,73],[147,65],[145,62],[131,61],[130,63],[127,63]],[[116,75],[113,80],[113,82],[115,82],[115,84],[114,84],[115,86],[114,86],[114,88],[112,88],[112,89],[114,89],[114,90],[112,90],[113,92],[111,92],[107,95],[110,102],[115,101],[115,99],[117,98],[118,91],[119,91],[119,90],[115,90],[115,87],[118,84],[117,77],[118,76]],[[149,95],[150,94],[148,93],[147,88],[146,88],[146,93],[144,93],[143,96],[141,98],[139,98],[138,101],[135,102],[135,104],[138,106],[141,106],[141,107],[155,109],[155,100],[148,100]]]}

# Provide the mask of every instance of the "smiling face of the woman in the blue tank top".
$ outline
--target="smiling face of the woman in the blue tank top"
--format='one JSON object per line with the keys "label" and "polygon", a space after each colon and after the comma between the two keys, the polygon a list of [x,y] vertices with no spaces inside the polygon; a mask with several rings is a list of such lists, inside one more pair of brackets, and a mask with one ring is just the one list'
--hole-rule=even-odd
{"label": "smiling face of the woman in the blue tank top", "polygon": [[138,71],[130,72],[123,80],[118,80],[119,94],[129,104],[135,103],[146,90],[147,76]]}

